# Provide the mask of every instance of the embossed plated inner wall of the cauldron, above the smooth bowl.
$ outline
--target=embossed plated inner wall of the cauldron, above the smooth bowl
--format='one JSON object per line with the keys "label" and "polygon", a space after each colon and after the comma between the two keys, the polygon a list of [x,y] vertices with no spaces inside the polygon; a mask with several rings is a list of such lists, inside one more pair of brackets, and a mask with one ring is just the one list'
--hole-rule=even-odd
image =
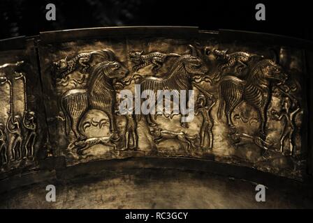
{"label": "embossed plated inner wall of the cauldron, above the smooth bowl", "polygon": [[[24,49],[2,51],[2,173],[38,168],[37,157],[45,158],[43,166],[65,157],[69,167],[153,156],[302,180],[311,155],[307,49],[251,35],[192,27],[85,29],[41,33],[38,55],[31,40]],[[120,114],[119,92],[134,92],[135,84],[142,91],[194,90],[194,121],[173,112]]]}

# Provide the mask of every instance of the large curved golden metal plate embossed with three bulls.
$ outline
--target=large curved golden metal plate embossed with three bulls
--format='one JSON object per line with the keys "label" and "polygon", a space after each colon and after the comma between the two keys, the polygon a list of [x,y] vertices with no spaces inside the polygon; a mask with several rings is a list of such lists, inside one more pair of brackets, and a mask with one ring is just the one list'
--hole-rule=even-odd
{"label": "large curved golden metal plate embossed with three bulls", "polygon": [[[145,29],[126,29],[125,36],[103,30],[79,40],[68,34],[55,42],[56,33],[44,33],[41,66],[54,155],[64,155],[68,165],[196,157],[302,178],[304,50],[193,29],[185,36],[158,30],[155,36]],[[119,91],[134,91],[134,84],[142,91],[194,89],[194,121],[118,115]]]}

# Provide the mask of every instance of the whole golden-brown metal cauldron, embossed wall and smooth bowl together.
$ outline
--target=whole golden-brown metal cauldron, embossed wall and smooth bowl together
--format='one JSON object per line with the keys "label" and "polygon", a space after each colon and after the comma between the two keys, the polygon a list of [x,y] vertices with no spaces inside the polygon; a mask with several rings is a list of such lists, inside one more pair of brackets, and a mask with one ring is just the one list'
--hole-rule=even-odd
{"label": "whole golden-brown metal cauldron, embossed wall and smooth bowl together", "polygon": [[312,208],[312,50],[179,26],[0,40],[0,207]]}

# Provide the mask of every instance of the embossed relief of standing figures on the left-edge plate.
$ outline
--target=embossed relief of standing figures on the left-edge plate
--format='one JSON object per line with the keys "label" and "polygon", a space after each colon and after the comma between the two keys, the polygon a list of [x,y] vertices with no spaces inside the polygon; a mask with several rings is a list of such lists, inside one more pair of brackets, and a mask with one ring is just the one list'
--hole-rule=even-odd
{"label": "embossed relief of standing figures on the left-edge plate", "polygon": [[[27,80],[21,72],[24,61],[0,66],[0,123],[1,167],[20,164],[21,160],[34,160],[36,144],[36,116],[27,105]],[[16,86],[15,86],[16,85]],[[6,114],[4,114],[6,113]]]}

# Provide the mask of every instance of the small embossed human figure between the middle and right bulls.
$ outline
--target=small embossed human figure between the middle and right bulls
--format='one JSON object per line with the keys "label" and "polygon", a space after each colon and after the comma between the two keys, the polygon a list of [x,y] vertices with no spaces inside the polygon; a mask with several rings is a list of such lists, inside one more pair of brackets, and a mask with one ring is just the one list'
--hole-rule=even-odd
{"label": "small embossed human figure between the middle and right bulls", "polygon": [[198,95],[197,98],[197,104],[196,104],[196,111],[195,115],[197,116],[198,114],[201,114],[203,116],[203,121],[201,125],[201,130],[200,130],[200,145],[201,148],[204,146],[204,139],[205,135],[208,134],[208,149],[213,148],[213,133],[212,133],[212,128],[214,125],[214,120],[211,116],[211,109],[215,105],[215,101],[212,100],[212,103],[210,105],[208,104],[208,100],[205,98],[205,95]]}

